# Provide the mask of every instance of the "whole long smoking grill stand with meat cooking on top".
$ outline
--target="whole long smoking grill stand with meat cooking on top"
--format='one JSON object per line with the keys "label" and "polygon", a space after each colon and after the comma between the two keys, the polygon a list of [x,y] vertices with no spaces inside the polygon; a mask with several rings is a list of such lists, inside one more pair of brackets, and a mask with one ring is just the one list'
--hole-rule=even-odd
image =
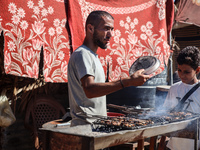
{"label": "whole long smoking grill stand with meat cooking on top", "polygon": [[[97,150],[158,135],[194,139],[197,150],[199,123],[197,114],[157,113],[151,109],[137,108],[135,111],[130,107],[129,109],[124,109],[124,106],[119,107],[131,113],[126,113],[125,116],[99,117],[92,126],[56,127],[56,122],[43,125],[41,130],[44,150],[61,150],[64,147],[69,150]],[[129,122],[128,125],[125,122]]]}

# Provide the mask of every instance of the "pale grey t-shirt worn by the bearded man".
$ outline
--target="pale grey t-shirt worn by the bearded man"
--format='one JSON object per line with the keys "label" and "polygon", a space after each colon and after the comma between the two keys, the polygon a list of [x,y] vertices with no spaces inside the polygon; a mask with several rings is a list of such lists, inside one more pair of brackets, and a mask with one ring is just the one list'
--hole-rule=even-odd
{"label": "pale grey t-shirt worn by the bearded man", "polygon": [[82,45],[72,53],[68,63],[71,126],[92,123],[96,118],[91,118],[91,115],[107,115],[106,96],[86,97],[80,81],[85,75],[94,76],[94,82],[105,82],[104,70],[98,55]]}

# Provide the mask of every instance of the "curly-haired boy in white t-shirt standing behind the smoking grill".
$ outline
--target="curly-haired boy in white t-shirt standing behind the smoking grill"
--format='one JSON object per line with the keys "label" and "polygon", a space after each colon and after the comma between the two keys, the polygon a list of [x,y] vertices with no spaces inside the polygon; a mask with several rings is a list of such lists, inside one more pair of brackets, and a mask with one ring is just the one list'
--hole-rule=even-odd
{"label": "curly-haired boy in white t-shirt standing behind the smoking grill", "polygon": [[[200,71],[200,51],[195,46],[187,46],[177,57],[178,75],[181,81],[173,84],[168,92],[164,107],[172,109],[185,94],[199,83],[197,74]],[[200,88],[197,88],[184,102],[183,111],[200,114]],[[172,137],[167,147],[171,150],[194,150],[194,140]],[[199,147],[200,148],[200,147]]]}

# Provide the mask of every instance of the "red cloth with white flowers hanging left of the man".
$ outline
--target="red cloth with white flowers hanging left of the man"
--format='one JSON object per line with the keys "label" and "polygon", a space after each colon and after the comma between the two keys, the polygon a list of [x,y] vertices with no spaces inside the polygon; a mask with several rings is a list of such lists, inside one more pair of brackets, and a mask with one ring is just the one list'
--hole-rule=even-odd
{"label": "red cloth with white flowers hanging left of the man", "polygon": [[0,30],[4,32],[7,74],[38,78],[44,51],[47,82],[67,82],[69,39],[63,0],[1,1]]}

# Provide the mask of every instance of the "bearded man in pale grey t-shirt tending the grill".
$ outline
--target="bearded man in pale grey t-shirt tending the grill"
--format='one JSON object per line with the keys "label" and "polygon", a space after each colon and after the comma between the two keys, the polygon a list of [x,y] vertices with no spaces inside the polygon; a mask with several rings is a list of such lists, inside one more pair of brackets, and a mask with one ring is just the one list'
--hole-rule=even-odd
{"label": "bearded man in pale grey t-shirt tending the grill", "polygon": [[144,69],[127,78],[106,82],[97,55],[98,47],[107,48],[114,18],[105,11],[93,11],[86,20],[83,45],[71,55],[68,63],[68,89],[71,126],[91,124],[94,116],[107,116],[106,95],[128,86],[140,86],[149,79]]}

